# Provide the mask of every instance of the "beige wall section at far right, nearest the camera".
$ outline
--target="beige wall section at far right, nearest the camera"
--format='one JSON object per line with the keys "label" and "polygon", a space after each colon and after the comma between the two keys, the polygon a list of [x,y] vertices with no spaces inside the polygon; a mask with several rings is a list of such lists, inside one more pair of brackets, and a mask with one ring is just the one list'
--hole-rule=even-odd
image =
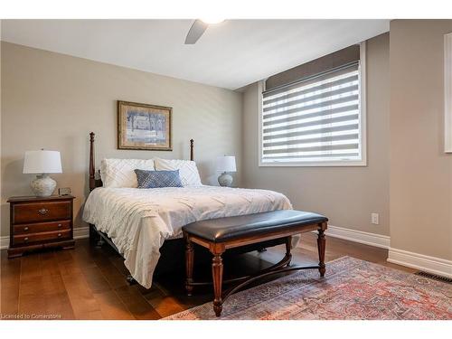
{"label": "beige wall section at far right, nearest the camera", "polygon": [[391,21],[391,247],[452,259],[443,34],[452,20]]}

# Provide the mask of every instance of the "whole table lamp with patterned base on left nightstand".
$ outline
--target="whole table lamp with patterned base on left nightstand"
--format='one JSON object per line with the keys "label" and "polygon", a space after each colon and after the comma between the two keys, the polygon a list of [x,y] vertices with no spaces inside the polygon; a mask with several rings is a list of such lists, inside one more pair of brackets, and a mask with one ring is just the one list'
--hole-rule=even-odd
{"label": "whole table lamp with patterned base on left nightstand", "polygon": [[25,152],[24,174],[38,174],[31,184],[36,196],[51,196],[56,182],[49,174],[61,172],[60,152],[44,151],[43,149]]}

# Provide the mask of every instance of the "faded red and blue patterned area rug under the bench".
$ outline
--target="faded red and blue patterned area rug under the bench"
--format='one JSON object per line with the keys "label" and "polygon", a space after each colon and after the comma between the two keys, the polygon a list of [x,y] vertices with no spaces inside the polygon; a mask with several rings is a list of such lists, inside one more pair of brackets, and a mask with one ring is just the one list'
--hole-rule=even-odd
{"label": "faded red and blue patterned area rug under the bench", "polygon": [[343,257],[229,297],[220,318],[212,303],[164,320],[452,319],[452,284]]}

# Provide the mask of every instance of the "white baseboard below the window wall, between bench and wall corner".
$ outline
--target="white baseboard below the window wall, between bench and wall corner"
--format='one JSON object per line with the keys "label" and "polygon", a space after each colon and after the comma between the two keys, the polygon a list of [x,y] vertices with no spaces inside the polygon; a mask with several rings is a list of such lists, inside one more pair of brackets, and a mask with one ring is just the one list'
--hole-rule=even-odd
{"label": "white baseboard below the window wall, between bench and wall corner", "polygon": [[332,225],[328,225],[328,229],[325,231],[325,234],[333,238],[359,242],[360,244],[379,247],[381,249],[388,250],[390,248],[391,238],[386,235],[344,229],[343,227]]}

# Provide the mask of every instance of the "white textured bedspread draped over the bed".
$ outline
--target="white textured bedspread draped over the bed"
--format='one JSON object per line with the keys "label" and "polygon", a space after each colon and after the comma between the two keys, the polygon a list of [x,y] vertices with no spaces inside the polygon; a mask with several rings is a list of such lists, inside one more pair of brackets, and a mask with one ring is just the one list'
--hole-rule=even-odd
{"label": "white textured bedspread draped over the bed", "polygon": [[182,236],[193,221],[290,210],[281,193],[216,186],[154,189],[97,188],[85,203],[83,220],[108,234],[142,286],[152,276],[164,240]]}

